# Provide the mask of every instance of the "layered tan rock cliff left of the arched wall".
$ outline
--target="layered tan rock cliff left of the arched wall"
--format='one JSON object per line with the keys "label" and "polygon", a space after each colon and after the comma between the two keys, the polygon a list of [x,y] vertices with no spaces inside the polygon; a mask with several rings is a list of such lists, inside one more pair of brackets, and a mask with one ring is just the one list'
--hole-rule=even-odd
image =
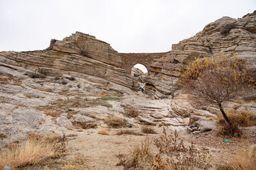
{"label": "layered tan rock cliff left of the arched wall", "polygon": [[86,78],[90,75],[130,89],[134,86],[129,72],[120,68],[118,52],[107,42],[80,32],[63,40],[51,40],[46,50],[0,52],[0,62],[53,76],[70,74]]}

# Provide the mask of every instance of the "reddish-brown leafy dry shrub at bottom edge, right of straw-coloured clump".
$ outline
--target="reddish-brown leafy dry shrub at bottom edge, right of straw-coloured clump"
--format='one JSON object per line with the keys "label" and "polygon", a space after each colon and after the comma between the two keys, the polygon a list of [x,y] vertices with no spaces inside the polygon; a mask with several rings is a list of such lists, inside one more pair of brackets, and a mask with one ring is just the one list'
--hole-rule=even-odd
{"label": "reddish-brown leafy dry shrub at bottom edge, right of straw-coloured clump", "polygon": [[[209,169],[208,154],[199,152],[193,142],[186,147],[178,133],[167,135],[164,128],[163,135],[154,140],[159,149],[152,162],[153,169]],[[165,155],[165,158],[164,158]]]}

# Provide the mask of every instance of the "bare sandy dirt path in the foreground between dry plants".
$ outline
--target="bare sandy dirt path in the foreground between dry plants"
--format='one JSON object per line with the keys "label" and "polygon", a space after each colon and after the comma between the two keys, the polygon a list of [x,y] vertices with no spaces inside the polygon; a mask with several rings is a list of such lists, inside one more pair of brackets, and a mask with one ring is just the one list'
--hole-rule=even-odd
{"label": "bare sandy dirt path in the foreground between dry plants", "polygon": [[[154,137],[156,135],[150,135]],[[83,154],[90,166],[94,169],[123,169],[116,166],[118,154],[127,154],[139,144],[146,136],[137,135],[82,135],[78,139],[70,140],[68,152],[70,157],[75,154]]]}

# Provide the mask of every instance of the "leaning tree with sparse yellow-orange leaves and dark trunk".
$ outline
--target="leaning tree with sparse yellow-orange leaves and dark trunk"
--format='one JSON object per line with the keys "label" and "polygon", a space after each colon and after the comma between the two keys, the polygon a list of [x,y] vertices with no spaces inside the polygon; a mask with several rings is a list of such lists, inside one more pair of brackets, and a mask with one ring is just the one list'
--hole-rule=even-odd
{"label": "leaning tree with sparse yellow-orange leaves and dark trunk", "polygon": [[222,103],[244,94],[254,81],[248,74],[245,60],[223,54],[195,60],[181,79],[187,93],[193,96],[192,100],[217,105],[230,126],[233,123],[225,114]]}

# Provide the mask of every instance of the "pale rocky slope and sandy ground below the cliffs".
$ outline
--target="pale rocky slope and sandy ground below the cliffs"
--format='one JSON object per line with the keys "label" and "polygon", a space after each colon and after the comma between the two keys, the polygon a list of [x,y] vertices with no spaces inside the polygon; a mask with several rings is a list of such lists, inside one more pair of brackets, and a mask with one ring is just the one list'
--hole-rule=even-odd
{"label": "pale rocky slope and sandy ground below the cliffs", "polygon": [[[227,103],[226,109],[256,113],[255,103]],[[157,132],[149,135],[152,139],[163,127],[169,132],[178,130],[187,143],[192,140],[198,149],[218,157],[238,142],[224,143],[222,137],[216,137],[217,113],[215,107],[193,108],[181,91],[174,99],[156,100],[98,77],[45,77],[21,67],[0,65],[0,145],[31,134],[65,134],[70,154],[60,159],[82,154],[92,169],[122,169],[116,166],[117,155],[145,139],[144,126]],[[109,123],[112,119],[117,123]],[[100,130],[106,130],[107,135],[99,134]],[[252,138],[253,130],[247,129]]]}

